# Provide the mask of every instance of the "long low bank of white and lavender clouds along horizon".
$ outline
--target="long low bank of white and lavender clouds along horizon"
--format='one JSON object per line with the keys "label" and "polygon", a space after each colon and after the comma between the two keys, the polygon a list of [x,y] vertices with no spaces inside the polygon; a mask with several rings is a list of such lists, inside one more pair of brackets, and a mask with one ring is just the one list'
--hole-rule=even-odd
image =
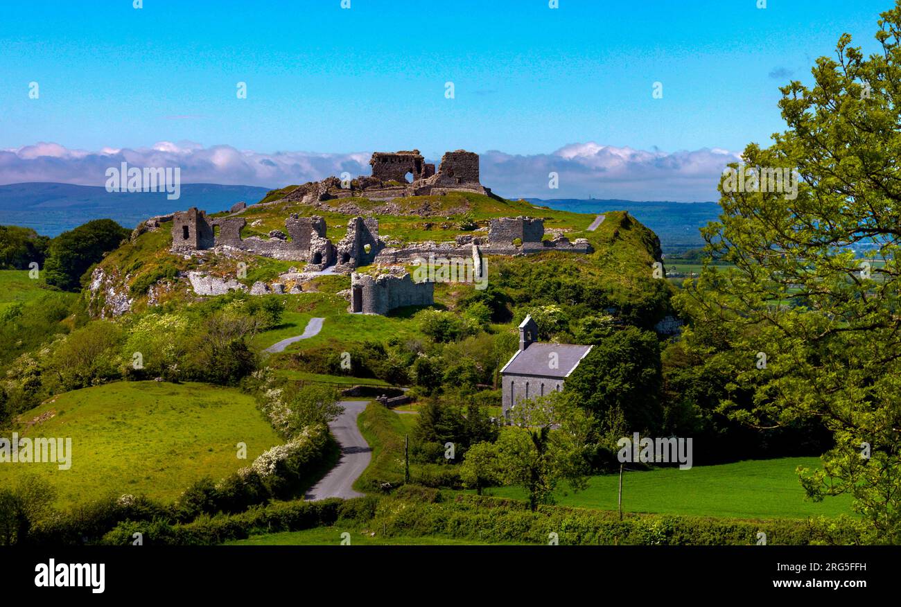
{"label": "long low bank of white and lavender clouds along horizon", "polygon": [[[150,148],[97,151],[36,143],[0,149],[0,185],[45,181],[103,186],[107,168],[178,167],[182,183],[281,187],[340,175],[369,175],[370,152],[271,154],[228,145],[205,148],[160,141]],[[678,202],[716,200],[725,165],[740,159],[726,149],[663,152],[574,143],[549,154],[481,154],[482,184],[496,194],[533,198],[622,198]],[[437,162],[440,159],[432,159]],[[430,161],[432,161],[430,160]],[[551,173],[557,174],[552,188]]]}

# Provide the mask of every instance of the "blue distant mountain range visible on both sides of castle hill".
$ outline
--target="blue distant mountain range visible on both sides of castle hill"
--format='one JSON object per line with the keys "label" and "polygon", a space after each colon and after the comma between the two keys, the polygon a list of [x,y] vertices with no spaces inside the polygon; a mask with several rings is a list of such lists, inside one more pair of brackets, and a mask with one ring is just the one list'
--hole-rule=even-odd
{"label": "blue distant mountain range visible on both sides of castle hill", "polygon": [[[253,204],[268,189],[255,186],[185,184],[181,196],[168,200],[165,192],[107,192],[103,186],[72,186],[55,183],[27,183],[0,186],[0,224],[23,225],[41,234],[56,236],[92,219],[111,218],[126,228],[141,220],[182,211],[191,206],[216,213],[244,201]],[[532,204],[575,213],[628,211],[660,236],[665,253],[693,249],[704,244],[698,228],[719,215],[716,203],[669,203],[631,200],[578,200],[526,198]]]}

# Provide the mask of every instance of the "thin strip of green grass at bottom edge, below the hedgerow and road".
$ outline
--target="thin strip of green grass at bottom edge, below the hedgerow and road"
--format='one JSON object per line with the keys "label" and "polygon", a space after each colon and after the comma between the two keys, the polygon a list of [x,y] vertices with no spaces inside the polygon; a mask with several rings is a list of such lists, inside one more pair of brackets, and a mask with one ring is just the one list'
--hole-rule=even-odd
{"label": "thin strip of green grass at bottom edge, below the hedgerow and road", "polygon": [[[225,546],[341,546],[341,533],[350,533],[350,546],[483,546],[488,542],[471,539],[384,537],[378,531],[358,531],[341,527],[316,527],[255,535],[226,542]],[[374,534],[374,535],[373,535]]]}

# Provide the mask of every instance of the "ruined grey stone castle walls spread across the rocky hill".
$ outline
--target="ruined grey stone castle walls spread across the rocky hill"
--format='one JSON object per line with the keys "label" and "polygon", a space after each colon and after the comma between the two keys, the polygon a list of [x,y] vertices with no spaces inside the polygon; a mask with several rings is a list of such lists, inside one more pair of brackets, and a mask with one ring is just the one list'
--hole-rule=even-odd
{"label": "ruined grey stone castle walls spread across the rocky hill", "polygon": [[[333,198],[361,196],[370,200],[391,200],[413,195],[441,195],[450,192],[474,192],[491,195],[491,190],[479,181],[478,154],[463,149],[446,152],[438,169],[425,162],[418,149],[397,152],[376,152],[369,160],[372,175],[341,182],[338,177],[328,177],[318,182],[298,186],[277,203],[296,202],[316,206]],[[208,217],[204,211],[192,207],[172,215],[160,215],[143,222],[132,234],[159,229],[163,222],[171,221],[172,251],[191,255],[197,251],[231,248],[268,258],[305,262],[304,272],[295,272],[301,280],[304,273],[322,272],[332,268],[334,272],[351,275],[350,310],[359,313],[387,313],[404,305],[430,305],[433,302],[432,283],[414,283],[402,268],[394,268],[389,274],[378,277],[358,274],[358,267],[402,265],[416,258],[429,255],[444,258],[473,258],[477,263],[481,255],[527,255],[549,250],[571,253],[591,253],[586,239],[570,242],[562,234],[552,240],[544,240],[544,221],[534,217],[500,217],[489,223],[487,235],[460,234],[447,242],[407,243],[389,246],[378,233],[375,217],[350,217],[347,231],[341,240],[332,242],[326,235],[322,216],[309,217],[291,213],[285,220],[285,230],[272,230],[268,238],[250,236],[242,238],[241,231],[247,220],[241,216],[249,207],[235,204],[228,215]],[[365,214],[369,210],[355,210]],[[423,212],[424,213],[424,212]],[[391,214],[390,212],[388,214]],[[478,264],[478,267],[481,267]],[[289,273],[290,274],[290,273]],[[287,276],[287,275],[286,275]],[[306,275],[308,276],[308,274]],[[199,280],[199,278],[197,279]],[[192,281],[192,285],[195,281]],[[238,288],[236,285],[207,287],[198,282],[195,291],[213,293],[222,288]],[[254,285],[251,294],[281,293],[280,283]],[[299,283],[292,289],[300,292]],[[295,292],[292,290],[292,292]],[[198,292],[198,294],[201,294]]]}

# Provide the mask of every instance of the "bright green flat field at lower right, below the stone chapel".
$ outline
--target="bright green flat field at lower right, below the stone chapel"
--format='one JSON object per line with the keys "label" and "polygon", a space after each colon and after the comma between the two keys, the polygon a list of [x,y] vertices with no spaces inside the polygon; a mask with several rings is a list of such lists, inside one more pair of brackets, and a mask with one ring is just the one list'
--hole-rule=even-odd
{"label": "bright green flat field at lower right, below the stone chapel", "polygon": [[[735,518],[805,518],[851,514],[851,498],[827,497],[821,503],[805,499],[795,469],[819,467],[818,458],[778,458],[743,461],[690,470],[659,468],[623,475],[623,511]],[[585,491],[559,487],[558,504],[616,510],[619,475],[592,476]],[[486,494],[525,499],[518,487],[496,487]]]}

